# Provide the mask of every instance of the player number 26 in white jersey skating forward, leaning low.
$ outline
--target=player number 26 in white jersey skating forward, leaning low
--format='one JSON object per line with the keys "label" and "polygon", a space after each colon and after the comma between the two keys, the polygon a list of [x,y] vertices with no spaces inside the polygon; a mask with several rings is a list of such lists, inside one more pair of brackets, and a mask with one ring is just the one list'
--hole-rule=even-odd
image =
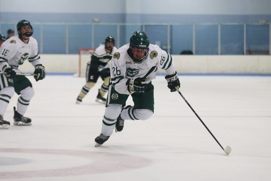
{"label": "player number 26 in white jersey skating forward, leaning low", "polygon": [[[134,32],[130,44],[114,53],[111,59],[111,79],[108,88],[101,134],[95,138],[95,146],[108,140],[115,127],[120,132],[124,120],[146,120],[154,113],[154,87],[151,80],[161,68],[166,71],[167,87],[171,92],[179,89],[180,82],[171,55],[152,45],[145,32]],[[134,106],[126,106],[132,96]]]}

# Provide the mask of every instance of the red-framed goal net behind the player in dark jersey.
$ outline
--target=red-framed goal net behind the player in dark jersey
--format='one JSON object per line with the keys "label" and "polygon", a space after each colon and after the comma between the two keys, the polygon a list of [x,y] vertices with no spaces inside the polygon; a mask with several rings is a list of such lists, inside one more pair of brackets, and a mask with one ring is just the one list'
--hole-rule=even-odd
{"label": "red-framed goal net behind the player in dark jersey", "polygon": [[94,48],[79,49],[78,71],[75,77],[85,77],[87,63],[94,51]]}

